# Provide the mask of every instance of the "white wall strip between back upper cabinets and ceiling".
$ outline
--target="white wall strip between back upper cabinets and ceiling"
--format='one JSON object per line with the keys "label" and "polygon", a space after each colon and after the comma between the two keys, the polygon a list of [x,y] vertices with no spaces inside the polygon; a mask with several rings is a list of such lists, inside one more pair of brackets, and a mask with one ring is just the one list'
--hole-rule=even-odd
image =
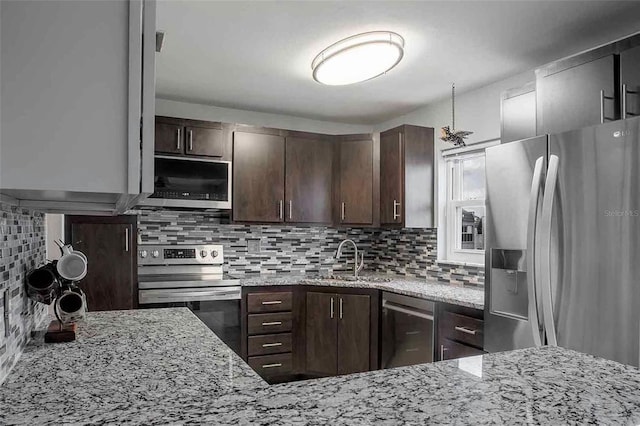
{"label": "white wall strip between back upper cabinets and ceiling", "polygon": [[156,98],[156,115],[191,118],[194,120],[221,121],[226,123],[249,124],[253,126],[275,127],[330,135],[348,133],[371,133],[373,126],[335,123],[312,120],[291,115],[270,114],[240,109],[222,108],[212,105],[192,104]]}

